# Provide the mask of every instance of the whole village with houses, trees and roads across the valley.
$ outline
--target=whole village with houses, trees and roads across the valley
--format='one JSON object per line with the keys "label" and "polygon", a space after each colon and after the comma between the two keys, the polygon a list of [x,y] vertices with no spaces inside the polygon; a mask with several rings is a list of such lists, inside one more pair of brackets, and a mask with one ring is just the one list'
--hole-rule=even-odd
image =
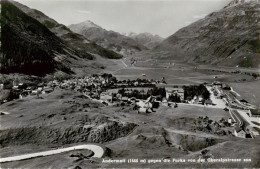
{"label": "whole village with houses, trees and roads across the valley", "polygon": [[[4,84],[0,84],[0,88],[4,89]],[[81,92],[87,98],[105,106],[133,105],[133,109],[137,113],[153,113],[159,106],[176,109],[181,104],[219,108],[230,114],[230,118],[223,119],[222,122],[223,124],[226,122],[228,126],[234,128],[234,136],[240,138],[259,136],[259,109],[246,100],[238,100],[239,94],[232,87],[216,81],[198,86],[182,86],[167,84],[165,78],[119,81],[111,74],[51,80],[36,86],[28,86],[14,80],[9,98],[0,101],[1,104],[4,104],[13,99],[23,99],[26,96],[41,97],[57,88]],[[1,112],[1,115],[3,114],[4,112]]]}

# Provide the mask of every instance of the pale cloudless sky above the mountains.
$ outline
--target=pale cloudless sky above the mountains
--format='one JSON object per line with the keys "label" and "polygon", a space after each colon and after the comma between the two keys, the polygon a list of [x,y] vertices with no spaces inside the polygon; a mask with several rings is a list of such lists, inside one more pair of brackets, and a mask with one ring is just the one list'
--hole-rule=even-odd
{"label": "pale cloudless sky above the mountains", "polygon": [[119,33],[149,32],[168,37],[231,0],[17,0],[61,24],[90,20]]}

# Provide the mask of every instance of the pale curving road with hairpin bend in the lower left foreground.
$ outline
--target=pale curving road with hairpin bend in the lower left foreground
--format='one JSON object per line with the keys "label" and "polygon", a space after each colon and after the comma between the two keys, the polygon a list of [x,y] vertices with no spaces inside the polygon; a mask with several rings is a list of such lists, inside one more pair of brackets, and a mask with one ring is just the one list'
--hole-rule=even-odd
{"label": "pale curving road with hairpin bend in the lower left foreground", "polygon": [[73,150],[84,150],[84,149],[93,151],[94,155],[92,157],[101,158],[104,155],[104,149],[102,147],[94,144],[87,144],[87,145],[78,145],[78,146],[72,146],[67,148],[60,148],[56,150],[48,150],[48,151],[43,151],[38,153],[30,153],[30,154],[18,155],[13,157],[0,158],[0,163],[26,160],[26,159],[36,158],[36,157],[43,157],[43,156],[49,156],[49,155],[60,154],[68,151],[73,151]]}

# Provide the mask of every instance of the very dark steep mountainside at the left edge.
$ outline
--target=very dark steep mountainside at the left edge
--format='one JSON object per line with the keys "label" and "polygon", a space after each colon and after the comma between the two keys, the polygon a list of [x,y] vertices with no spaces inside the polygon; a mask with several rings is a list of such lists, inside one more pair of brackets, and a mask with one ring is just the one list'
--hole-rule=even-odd
{"label": "very dark steep mountainside at the left edge", "polygon": [[57,70],[72,73],[70,60],[78,54],[44,25],[12,3],[1,1],[1,73],[45,75]]}

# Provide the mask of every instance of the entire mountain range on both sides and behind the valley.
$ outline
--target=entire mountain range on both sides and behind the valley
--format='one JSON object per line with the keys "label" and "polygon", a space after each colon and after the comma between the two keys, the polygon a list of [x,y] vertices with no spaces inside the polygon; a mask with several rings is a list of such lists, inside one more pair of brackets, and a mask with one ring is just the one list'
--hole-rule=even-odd
{"label": "entire mountain range on both sides and behind the valley", "polygon": [[[1,73],[73,73],[101,56],[220,66],[260,67],[260,3],[230,3],[166,39],[150,33],[120,34],[91,21],[62,25],[15,1],[1,1]],[[101,63],[102,64],[102,63]]]}

